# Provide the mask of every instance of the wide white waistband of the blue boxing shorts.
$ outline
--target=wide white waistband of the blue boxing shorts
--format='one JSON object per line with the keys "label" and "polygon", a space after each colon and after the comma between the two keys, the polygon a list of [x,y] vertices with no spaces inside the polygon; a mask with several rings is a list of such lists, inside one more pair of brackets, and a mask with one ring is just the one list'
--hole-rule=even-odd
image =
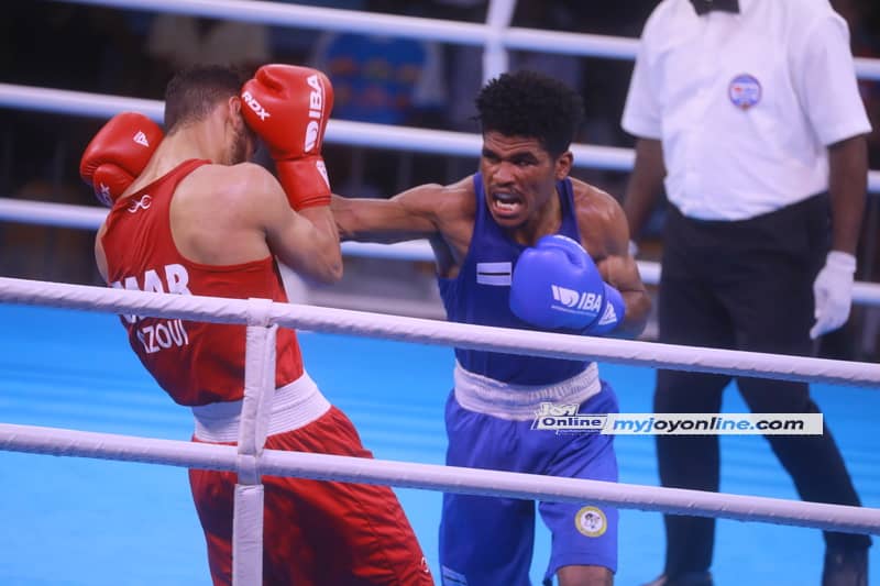
{"label": "wide white waistband of the blue boxing shorts", "polygon": [[469,411],[502,419],[530,421],[542,402],[582,403],[602,390],[596,363],[554,385],[509,385],[465,371],[455,363],[455,399]]}

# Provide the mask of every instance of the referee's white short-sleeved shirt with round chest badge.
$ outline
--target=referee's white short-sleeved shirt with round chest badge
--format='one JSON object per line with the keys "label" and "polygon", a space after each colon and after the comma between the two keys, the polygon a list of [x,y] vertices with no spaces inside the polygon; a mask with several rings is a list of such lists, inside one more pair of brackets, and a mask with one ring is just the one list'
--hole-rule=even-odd
{"label": "referee's white short-sleeved shirt with round chest badge", "polygon": [[697,16],[664,0],[645,25],[624,129],[662,141],[669,200],[743,220],[828,188],[825,146],[870,132],[849,31],[827,0],[739,0]]}

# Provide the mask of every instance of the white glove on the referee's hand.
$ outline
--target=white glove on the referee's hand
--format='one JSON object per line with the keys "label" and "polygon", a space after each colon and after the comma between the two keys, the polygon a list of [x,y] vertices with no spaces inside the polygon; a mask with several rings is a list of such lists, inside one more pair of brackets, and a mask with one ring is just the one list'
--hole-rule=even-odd
{"label": "white glove on the referee's hand", "polygon": [[816,298],[816,323],[810,330],[810,338],[813,340],[846,323],[853,305],[855,273],[855,256],[840,251],[828,253],[825,266],[813,283],[813,295]]}

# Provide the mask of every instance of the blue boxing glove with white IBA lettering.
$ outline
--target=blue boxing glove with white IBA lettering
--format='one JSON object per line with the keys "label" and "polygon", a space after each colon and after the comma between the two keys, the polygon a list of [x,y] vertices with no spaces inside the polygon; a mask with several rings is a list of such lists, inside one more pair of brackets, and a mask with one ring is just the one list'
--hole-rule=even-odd
{"label": "blue boxing glove with white IBA lettering", "polygon": [[510,283],[510,311],[538,328],[597,335],[624,320],[626,305],[620,291],[602,280],[583,246],[553,234],[519,255]]}

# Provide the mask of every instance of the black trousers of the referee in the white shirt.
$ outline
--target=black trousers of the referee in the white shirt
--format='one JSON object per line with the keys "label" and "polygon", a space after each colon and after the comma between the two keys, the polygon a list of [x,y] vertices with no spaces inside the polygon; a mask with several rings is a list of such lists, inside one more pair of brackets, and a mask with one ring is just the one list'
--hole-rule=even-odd
{"label": "black trousers of the referee in the white shirt", "polygon": [[[750,220],[683,217],[670,206],[658,319],[660,341],[707,347],[809,355],[813,280],[828,250],[826,195]],[[659,371],[654,411],[717,413],[726,375]],[[752,412],[815,413],[804,383],[736,377]],[[860,505],[827,427],[822,435],[766,436],[803,500]],[[663,486],[718,490],[717,435],[658,435]],[[715,520],[666,516],[666,574],[712,564]],[[828,544],[865,548],[867,535],[826,532]]]}

